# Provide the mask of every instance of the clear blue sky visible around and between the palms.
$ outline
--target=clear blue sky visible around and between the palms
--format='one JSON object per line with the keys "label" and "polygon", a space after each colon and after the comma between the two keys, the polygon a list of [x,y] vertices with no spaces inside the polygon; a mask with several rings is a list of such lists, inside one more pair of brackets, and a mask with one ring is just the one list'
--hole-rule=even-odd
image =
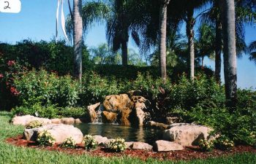
{"label": "clear blue sky visible around and between the palms", "polygon": [[[0,42],[15,44],[23,39],[50,41],[56,33],[57,0],[21,0],[18,14],[0,12]],[[64,13],[69,14],[67,0],[64,1]],[[59,26],[59,37],[64,35]],[[256,25],[246,26],[246,44],[256,40]],[[85,38],[86,45],[96,47],[105,43],[105,25],[92,26]],[[129,41],[129,47],[138,51],[135,43]],[[238,58],[238,87],[256,89],[256,64],[249,61],[248,55]],[[214,61],[206,59],[206,65],[214,69]],[[222,81],[223,81],[222,65]]]}

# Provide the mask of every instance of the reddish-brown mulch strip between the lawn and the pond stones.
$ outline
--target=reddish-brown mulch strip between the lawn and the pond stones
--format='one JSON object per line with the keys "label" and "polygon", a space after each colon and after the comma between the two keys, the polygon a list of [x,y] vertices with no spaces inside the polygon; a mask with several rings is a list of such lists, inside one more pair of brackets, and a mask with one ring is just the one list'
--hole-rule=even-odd
{"label": "reddish-brown mulch strip between the lawn and the pond stones", "polygon": [[98,157],[138,157],[141,160],[147,160],[148,157],[157,159],[157,160],[192,160],[192,159],[205,159],[208,157],[219,157],[223,155],[233,155],[243,152],[253,152],[256,153],[256,149],[249,146],[239,145],[234,147],[230,151],[222,151],[219,149],[214,149],[212,152],[202,152],[199,147],[186,147],[181,151],[172,151],[172,152],[153,152],[146,151],[141,149],[126,149],[124,152],[111,152],[109,149],[98,147],[98,149],[88,151],[84,149],[83,145],[78,145],[76,149],[63,149],[57,144],[53,147],[39,147],[34,141],[26,141],[23,139],[23,136],[16,136],[12,138],[7,138],[8,143],[16,145],[18,147],[31,147],[37,149],[46,149],[50,151],[59,151],[65,152],[67,154],[76,154],[76,155],[91,155]]}

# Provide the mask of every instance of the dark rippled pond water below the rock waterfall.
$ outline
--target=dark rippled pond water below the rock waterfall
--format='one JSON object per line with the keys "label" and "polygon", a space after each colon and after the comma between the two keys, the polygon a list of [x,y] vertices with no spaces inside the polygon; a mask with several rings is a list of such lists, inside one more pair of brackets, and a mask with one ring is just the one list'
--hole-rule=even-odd
{"label": "dark rippled pond water below the rock waterfall", "polygon": [[82,123],[75,125],[79,128],[83,135],[99,135],[108,138],[121,137],[125,141],[143,141],[148,144],[153,144],[162,138],[162,130],[153,128],[132,128],[129,126],[103,124],[103,123]]}

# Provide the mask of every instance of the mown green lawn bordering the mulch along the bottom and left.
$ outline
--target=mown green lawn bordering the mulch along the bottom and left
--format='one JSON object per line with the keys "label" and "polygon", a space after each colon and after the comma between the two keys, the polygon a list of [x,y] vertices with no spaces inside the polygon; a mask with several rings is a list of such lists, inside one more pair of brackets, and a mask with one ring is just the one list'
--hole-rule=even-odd
{"label": "mown green lawn bordering the mulch along the bottom and left", "polygon": [[255,164],[256,155],[252,153],[244,153],[229,157],[208,158],[206,160],[191,160],[191,161],[159,161],[148,159],[141,161],[131,157],[92,157],[89,155],[67,155],[63,152],[48,152],[41,149],[31,149],[25,147],[15,147],[7,144],[5,139],[12,136],[17,136],[23,132],[22,126],[10,125],[10,113],[0,112],[0,163],[178,163],[178,164],[219,164],[219,163],[246,163]]}

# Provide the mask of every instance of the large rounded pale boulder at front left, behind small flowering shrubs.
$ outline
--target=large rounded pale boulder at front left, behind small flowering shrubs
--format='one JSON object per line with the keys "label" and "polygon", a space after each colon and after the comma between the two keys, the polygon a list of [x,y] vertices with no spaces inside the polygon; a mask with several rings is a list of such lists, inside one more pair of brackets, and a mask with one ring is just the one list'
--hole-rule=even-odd
{"label": "large rounded pale boulder at front left, behind small flowering shrubs", "polygon": [[28,141],[36,141],[37,134],[42,130],[48,130],[58,144],[62,144],[69,137],[72,137],[77,144],[83,141],[83,133],[78,128],[64,124],[43,125],[41,128],[25,129],[23,137]]}

